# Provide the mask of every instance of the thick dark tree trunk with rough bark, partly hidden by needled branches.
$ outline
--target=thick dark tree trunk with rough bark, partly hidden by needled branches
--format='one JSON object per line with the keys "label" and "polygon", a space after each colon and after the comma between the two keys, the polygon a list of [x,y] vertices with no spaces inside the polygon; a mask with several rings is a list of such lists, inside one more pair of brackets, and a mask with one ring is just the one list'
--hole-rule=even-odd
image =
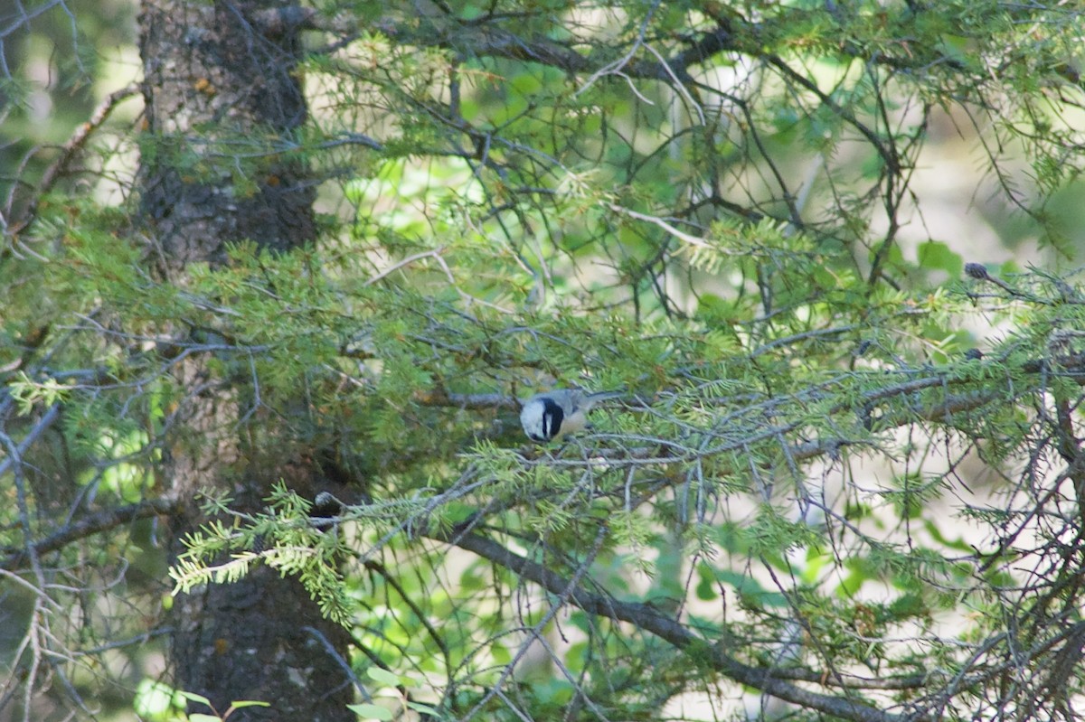
{"label": "thick dark tree trunk with rough bark, partly hidden by needled branches", "polygon": [[[261,23],[269,13],[260,0],[144,2],[142,215],[151,261],[175,283],[184,284],[189,263],[225,263],[231,242],[282,252],[314,240],[315,191],[304,164],[286,153],[306,116],[294,75],[297,28]],[[202,488],[226,490],[235,508],[254,511],[279,479],[303,493],[319,484],[319,469],[301,454],[246,446],[246,389],[197,356],[176,369],[183,398],[164,449],[170,493],[188,500]],[[257,436],[275,434],[272,421],[248,423],[263,424]],[[175,554],[202,520],[195,504],[186,506],[174,519]],[[219,713],[237,700],[270,704],[231,720],[354,719],[341,666],[348,636],[321,618],[296,580],[256,569],[235,584],[180,595],[173,626],[177,688],[208,697]]]}

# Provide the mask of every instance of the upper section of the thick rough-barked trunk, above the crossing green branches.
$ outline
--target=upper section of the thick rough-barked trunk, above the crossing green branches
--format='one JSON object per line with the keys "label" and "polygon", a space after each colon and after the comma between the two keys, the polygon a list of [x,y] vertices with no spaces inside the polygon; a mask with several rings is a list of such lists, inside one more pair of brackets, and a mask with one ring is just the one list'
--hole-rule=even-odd
{"label": "upper section of the thick rough-barked trunk, above the crossing green branches", "polygon": [[306,117],[297,28],[254,20],[267,4],[149,0],[140,14],[143,215],[170,270],[222,262],[228,242],[314,236],[315,190],[289,157]]}

